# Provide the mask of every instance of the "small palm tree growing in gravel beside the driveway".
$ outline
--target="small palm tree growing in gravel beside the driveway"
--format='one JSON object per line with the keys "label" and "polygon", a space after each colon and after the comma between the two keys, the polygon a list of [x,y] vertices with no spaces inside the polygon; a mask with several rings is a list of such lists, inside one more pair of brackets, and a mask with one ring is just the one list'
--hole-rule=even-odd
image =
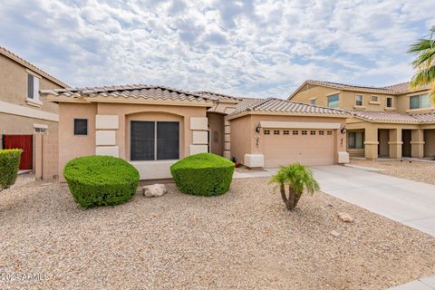
{"label": "small palm tree growing in gravel beside the driveway", "polygon": [[[319,184],[313,178],[311,169],[299,163],[281,167],[278,172],[269,180],[269,184],[275,184],[275,189],[279,187],[281,198],[288,210],[296,208],[299,198],[304,191],[314,194],[319,190]],[[288,198],[285,194],[285,185],[288,186]]]}

